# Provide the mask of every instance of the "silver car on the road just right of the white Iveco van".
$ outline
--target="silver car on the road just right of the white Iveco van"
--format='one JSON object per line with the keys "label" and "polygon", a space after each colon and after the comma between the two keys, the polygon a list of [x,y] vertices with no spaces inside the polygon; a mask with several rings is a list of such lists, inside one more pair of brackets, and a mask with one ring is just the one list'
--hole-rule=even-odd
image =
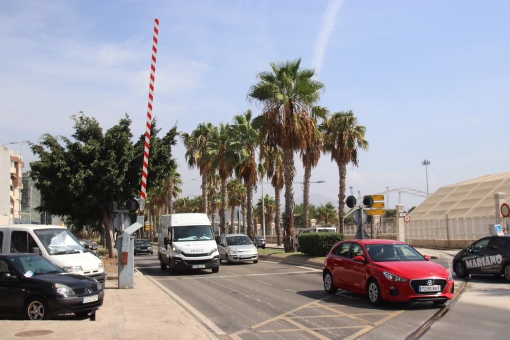
{"label": "silver car on the road just right of the white Iveco van", "polygon": [[259,261],[259,252],[249,237],[245,234],[227,234],[220,237],[218,245],[220,261],[225,260],[227,265],[233,262]]}

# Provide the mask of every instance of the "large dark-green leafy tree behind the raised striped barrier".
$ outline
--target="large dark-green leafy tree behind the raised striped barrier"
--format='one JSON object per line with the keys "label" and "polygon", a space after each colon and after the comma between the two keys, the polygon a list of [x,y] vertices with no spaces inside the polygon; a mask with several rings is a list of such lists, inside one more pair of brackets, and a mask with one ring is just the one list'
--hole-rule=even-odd
{"label": "large dark-green leafy tree behind the raised striped barrier", "polygon": [[[53,215],[68,216],[68,221],[79,229],[101,221],[113,257],[114,213],[109,210],[109,203],[123,203],[139,195],[143,143],[133,144],[131,119],[127,115],[106,133],[94,118],[83,113],[71,119],[72,138],[45,134],[39,144],[31,147],[39,158],[30,164],[34,186],[44,197],[38,208]],[[175,142],[176,129],[172,128],[164,141],[157,136],[159,131],[153,121],[148,189],[175,169],[171,145]]]}

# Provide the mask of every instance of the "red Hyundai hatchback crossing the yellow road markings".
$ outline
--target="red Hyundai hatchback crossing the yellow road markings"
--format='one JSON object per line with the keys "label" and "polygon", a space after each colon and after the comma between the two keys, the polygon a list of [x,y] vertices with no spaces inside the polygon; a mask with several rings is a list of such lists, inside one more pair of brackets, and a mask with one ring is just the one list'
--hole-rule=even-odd
{"label": "red Hyundai hatchback crossing the yellow road markings", "polygon": [[453,279],[449,271],[429,259],[400,241],[342,241],[324,260],[324,290],[328,294],[335,294],[339,288],[366,294],[372,304],[443,304],[453,297]]}

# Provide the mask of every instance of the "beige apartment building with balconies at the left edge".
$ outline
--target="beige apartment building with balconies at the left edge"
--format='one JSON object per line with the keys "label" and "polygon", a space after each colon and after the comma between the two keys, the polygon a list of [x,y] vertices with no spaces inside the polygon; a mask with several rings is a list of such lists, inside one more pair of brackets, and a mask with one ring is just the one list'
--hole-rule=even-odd
{"label": "beige apartment building with balconies at the left edge", "polygon": [[21,153],[0,146],[0,225],[12,224],[21,218],[23,167]]}

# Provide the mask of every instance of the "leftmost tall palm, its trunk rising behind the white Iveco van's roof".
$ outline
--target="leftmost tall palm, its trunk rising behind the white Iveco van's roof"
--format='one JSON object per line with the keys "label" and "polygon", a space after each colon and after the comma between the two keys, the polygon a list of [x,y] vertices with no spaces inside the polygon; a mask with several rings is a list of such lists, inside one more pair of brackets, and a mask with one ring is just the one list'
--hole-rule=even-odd
{"label": "leftmost tall palm, its trunk rising behind the white Iveco van's roof", "polygon": [[181,133],[181,138],[186,147],[185,157],[188,160],[188,166],[198,168],[202,177],[202,204],[201,212],[207,214],[207,179],[212,171],[211,162],[206,157],[207,145],[211,136],[217,128],[211,123],[200,123],[191,134]]}

